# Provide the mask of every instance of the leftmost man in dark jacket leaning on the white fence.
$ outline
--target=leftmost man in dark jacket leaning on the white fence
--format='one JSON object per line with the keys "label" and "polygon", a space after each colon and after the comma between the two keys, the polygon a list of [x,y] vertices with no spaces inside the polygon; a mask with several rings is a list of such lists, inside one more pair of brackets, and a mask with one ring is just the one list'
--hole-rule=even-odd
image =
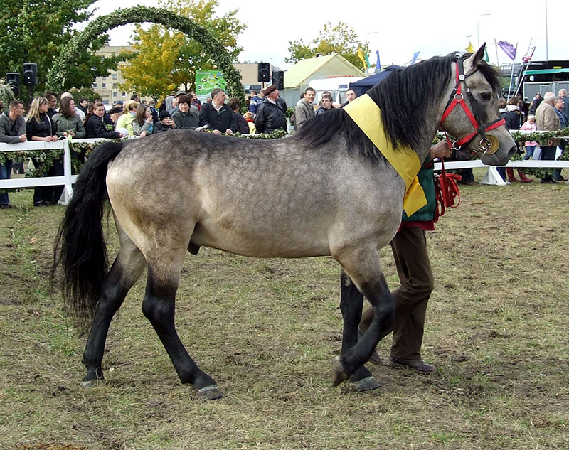
{"label": "leftmost man in dark jacket leaning on the white fence", "polygon": [[[23,104],[12,100],[8,111],[0,114],[0,142],[17,144],[26,141],[26,119],[23,118]],[[0,180],[9,180],[12,171],[12,160],[6,159],[0,164]],[[11,208],[8,193],[0,194],[0,208]]]}

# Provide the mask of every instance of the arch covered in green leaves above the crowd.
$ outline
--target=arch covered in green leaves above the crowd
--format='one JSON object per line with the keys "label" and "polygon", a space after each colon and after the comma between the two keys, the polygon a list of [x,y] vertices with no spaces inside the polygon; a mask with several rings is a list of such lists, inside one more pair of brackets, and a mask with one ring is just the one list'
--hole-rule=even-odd
{"label": "arch covered in green leaves above the crowd", "polygon": [[193,23],[190,18],[178,16],[167,9],[149,6],[118,9],[111,14],[107,14],[107,16],[96,18],[87,25],[85,30],[68,43],[65,50],[63,50],[50,68],[47,81],[48,89],[55,91],[63,89],[67,68],[73,65],[73,61],[80,53],[80,50],[87,48],[92,40],[113,28],[117,28],[117,26],[144,22],[160,23],[168,28],[181,31],[198,41],[203,46],[203,50],[211,55],[219,70],[223,72],[227,82],[228,95],[230,97],[245,98],[240,73],[233,67],[227,50],[206,28]]}

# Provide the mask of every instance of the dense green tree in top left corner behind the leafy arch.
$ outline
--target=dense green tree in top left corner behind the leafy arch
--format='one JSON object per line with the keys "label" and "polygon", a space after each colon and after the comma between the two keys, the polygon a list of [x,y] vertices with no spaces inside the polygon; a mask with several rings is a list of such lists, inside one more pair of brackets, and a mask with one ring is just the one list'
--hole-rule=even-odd
{"label": "dense green tree in top left corner behind the leafy arch", "polygon": [[[0,0],[0,73],[22,72],[23,63],[38,65],[38,86],[43,91],[53,60],[78,31],[73,26],[87,21],[96,0]],[[91,85],[96,76],[106,76],[108,68],[117,67],[116,58],[104,58],[94,52],[107,43],[108,36],[94,39],[82,49],[68,70],[64,89]]]}

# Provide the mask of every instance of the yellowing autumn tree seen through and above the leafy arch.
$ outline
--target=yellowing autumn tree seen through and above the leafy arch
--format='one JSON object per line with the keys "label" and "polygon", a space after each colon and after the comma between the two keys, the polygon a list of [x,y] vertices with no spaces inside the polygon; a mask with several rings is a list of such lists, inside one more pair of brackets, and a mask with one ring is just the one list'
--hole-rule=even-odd
{"label": "yellowing autumn tree seen through and above the leafy arch", "polygon": [[[225,47],[231,60],[237,60],[243,50],[237,45],[237,38],[245,28],[245,24],[236,17],[237,11],[230,11],[221,17],[214,16],[218,0],[159,0],[159,5],[206,28]],[[144,48],[147,45],[165,48],[167,55],[163,60],[156,61],[156,51]],[[179,51],[174,58],[176,45],[179,45]],[[159,85],[163,86],[159,97],[169,92],[172,85],[174,88],[184,85],[186,91],[193,90],[196,87],[196,70],[216,68],[212,55],[204,52],[195,39],[184,33],[170,32],[162,26],[153,26],[148,32],[137,27],[132,46],[135,54],[129,59],[130,68],[123,70],[126,80],[124,87],[136,89],[137,92],[157,92]],[[144,80],[140,75],[142,73],[145,73]],[[168,80],[164,80],[164,73],[169,74]],[[146,87],[142,86],[143,82]]]}

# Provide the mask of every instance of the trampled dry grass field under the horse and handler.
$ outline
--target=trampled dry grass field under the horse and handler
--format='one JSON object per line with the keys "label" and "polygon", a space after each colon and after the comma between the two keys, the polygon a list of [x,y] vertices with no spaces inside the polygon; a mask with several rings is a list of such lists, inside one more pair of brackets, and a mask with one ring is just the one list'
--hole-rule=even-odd
{"label": "trampled dry grass field under the horse and handler", "polygon": [[[223,390],[217,401],[180,384],[140,309],[145,276],[111,325],[105,382],[80,387],[86,336],[48,285],[64,208],[11,194],[17,209],[0,213],[0,449],[568,449],[569,186],[461,193],[428,237],[423,357],[439,370],[369,365],[373,392],[331,386],[331,258],[188,254],[176,323]],[[114,257],[112,227],[109,240]],[[389,249],[381,259],[395,288]]]}

